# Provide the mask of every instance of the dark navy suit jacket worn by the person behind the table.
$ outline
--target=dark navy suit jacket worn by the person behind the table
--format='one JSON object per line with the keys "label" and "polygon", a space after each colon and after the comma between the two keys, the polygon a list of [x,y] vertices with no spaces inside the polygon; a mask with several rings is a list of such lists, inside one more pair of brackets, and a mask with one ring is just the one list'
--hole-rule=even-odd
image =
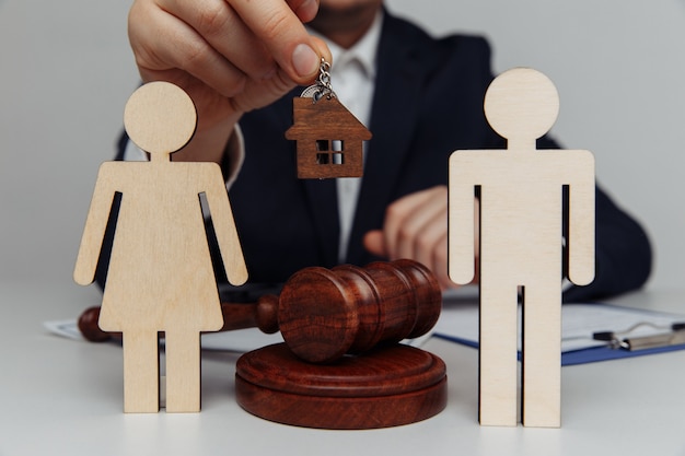
{"label": "dark navy suit jacket worn by the person behind the table", "polygon": [[[386,14],[379,46],[369,125],[373,138],[346,254],[347,262],[357,265],[378,259],[364,250],[362,236],[382,226],[390,203],[446,185],[453,151],[506,147],[483,114],[492,80],[485,39],[433,39]],[[279,283],[301,268],[338,262],[335,182],[298,179],[294,141],[283,136],[292,125],[292,97],[301,91],[240,122],[246,156],[230,198],[251,282]],[[558,148],[548,139],[539,147]],[[628,291],[649,276],[650,245],[638,223],[599,189],[596,212],[596,279],[567,292],[567,300]]]}

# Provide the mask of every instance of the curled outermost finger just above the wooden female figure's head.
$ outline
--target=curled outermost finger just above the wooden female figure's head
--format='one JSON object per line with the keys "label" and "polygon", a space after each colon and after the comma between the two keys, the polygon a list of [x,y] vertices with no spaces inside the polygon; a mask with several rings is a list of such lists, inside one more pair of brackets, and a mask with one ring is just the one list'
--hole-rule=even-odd
{"label": "curled outermost finger just above the wooden female figure's head", "polygon": [[142,70],[182,69],[224,96],[243,90],[245,74],[195,30],[166,12],[140,11],[149,8],[137,2],[129,14],[129,39]]}

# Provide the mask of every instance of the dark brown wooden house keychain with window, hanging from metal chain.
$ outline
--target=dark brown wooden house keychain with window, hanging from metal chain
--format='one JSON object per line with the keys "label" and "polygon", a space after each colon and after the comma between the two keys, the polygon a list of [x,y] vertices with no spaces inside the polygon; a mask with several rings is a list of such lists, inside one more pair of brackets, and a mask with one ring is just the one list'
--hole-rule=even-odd
{"label": "dark brown wooden house keychain with window, hanging from metal chain", "polygon": [[330,86],[330,63],[322,58],[318,80],[293,98],[298,177],[361,177],[363,141],[371,132],[338,100]]}

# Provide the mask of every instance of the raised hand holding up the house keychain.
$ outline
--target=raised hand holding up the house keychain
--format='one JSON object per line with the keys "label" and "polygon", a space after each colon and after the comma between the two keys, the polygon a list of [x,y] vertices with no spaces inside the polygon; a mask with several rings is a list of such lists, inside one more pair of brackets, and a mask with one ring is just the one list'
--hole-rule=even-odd
{"label": "raised hand holding up the house keychain", "polygon": [[310,36],[318,0],[135,0],[129,40],[144,82],[184,89],[198,133],[233,125],[297,84],[312,82],[326,45]]}

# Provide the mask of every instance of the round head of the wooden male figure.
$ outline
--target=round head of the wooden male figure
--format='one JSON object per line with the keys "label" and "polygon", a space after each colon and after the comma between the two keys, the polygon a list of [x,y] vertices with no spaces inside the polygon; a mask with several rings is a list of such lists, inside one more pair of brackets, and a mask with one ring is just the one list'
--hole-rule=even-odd
{"label": "round head of the wooden male figure", "polygon": [[559,114],[559,94],[553,82],[531,68],[514,68],[497,77],[485,94],[490,126],[510,143],[535,143],[549,131]]}

